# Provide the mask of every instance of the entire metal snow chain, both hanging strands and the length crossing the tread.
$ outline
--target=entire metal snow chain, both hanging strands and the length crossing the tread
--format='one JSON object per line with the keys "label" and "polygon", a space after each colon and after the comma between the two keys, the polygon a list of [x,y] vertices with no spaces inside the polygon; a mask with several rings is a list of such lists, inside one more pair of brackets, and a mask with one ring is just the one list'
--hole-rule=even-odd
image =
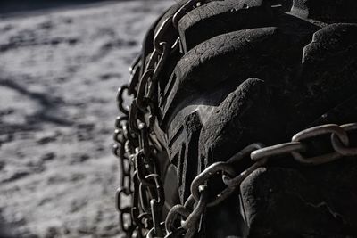
{"label": "entire metal snow chain, both hanging strands and the length crossing the tread", "polygon": [[[357,130],[357,123],[311,127],[297,133],[291,142],[285,144],[250,144],[229,160],[215,162],[205,168],[193,180],[191,195],[185,204],[173,206],[166,219],[162,220],[165,198],[156,158],[157,153],[162,151],[162,146],[153,133],[157,115],[155,98],[158,75],[170,53],[178,51],[180,44],[179,38],[174,42],[165,42],[163,37],[167,29],[172,26],[177,28],[179,20],[201,4],[197,0],[187,1],[178,12],[162,22],[154,36],[154,51],[146,66],[142,58],[138,57],[130,68],[132,78],[129,86],[121,86],[118,91],[118,108],[123,116],[116,119],[114,132],[113,153],[120,160],[120,188],[116,193],[116,205],[120,213],[120,228],[127,237],[193,237],[199,230],[204,210],[227,199],[245,177],[265,165],[272,157],[291,154],[300,163],[319,165],[344,156],[357,155],[357,148],[350,147],[348,135],[350,131]],[[123,105],[124,93],[135,96],[129,110]],[[301,152],[308,151],[308,145],[303,141],[319,140],[320,135],[330,135],[334,152],[305,158]],[[253,165],[237,174],[234,164],[245,159],[253,160]],[[208,194],[208,182],[218,173],[227,186],[218,194]]]}

